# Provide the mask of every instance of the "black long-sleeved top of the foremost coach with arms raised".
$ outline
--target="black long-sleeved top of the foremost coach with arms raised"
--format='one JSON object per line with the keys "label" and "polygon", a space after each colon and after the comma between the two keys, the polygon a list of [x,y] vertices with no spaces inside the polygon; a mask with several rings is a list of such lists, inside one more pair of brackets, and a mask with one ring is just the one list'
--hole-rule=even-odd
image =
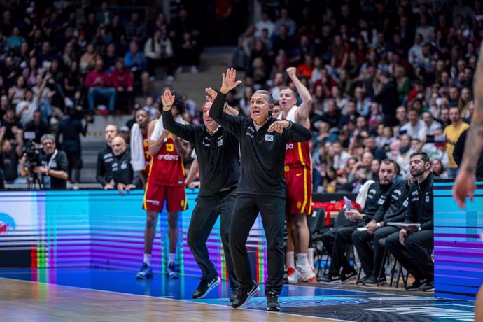
{"label": "black long-sleeved top of the foremost coach with arms raised", "polygon": [[240,141],[241,171],[237,194],[286,197],[283,176],[286,143],[309,141],[310,131],[293,123],[290,129],[283,130],[281,134],[267,132],[268,127],[276,121],[274,118],[270,118],[257,131],[251,118],[223,113],[225,97],[225,94],[218,94],[211,106],[210,116]]}

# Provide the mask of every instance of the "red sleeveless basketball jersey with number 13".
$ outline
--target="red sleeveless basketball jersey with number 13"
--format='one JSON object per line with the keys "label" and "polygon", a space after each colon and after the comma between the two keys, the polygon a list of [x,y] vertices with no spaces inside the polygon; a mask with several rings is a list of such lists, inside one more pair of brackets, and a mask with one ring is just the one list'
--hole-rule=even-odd
{"label": "red sleeveless basketball jersey with number 13", "polygon": [[148,182],[160,186],[183,186],[185,184],[183,159],[174,147],[173,134],[168,134],[160,151],[153,156]]}

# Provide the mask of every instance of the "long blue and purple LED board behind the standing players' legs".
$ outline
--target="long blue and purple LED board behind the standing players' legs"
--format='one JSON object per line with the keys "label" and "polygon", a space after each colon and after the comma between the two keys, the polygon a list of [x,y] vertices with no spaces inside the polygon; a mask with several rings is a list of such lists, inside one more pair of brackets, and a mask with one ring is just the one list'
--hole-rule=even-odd
{"label": "long blue and purple LED board behind the standing players' legs", "polygon": [[[18,191],[0,193],[0,258],[2,251],[29,251],[30,267],[103,267],[137,270],[144,253],[144,192],[121,197],[117,191]],[[197,190],[186,191],[188,210],[179,219],[177,264],[181,274],[200,276],[186,243]],[[153,247],[152,266],[165,272],[168,257],[167,214],[163,211]],[[219,219],[207,241],[219,276],[228,278]],[[260,218],[248,237],[253,276],[265,281],[265,232]]]}

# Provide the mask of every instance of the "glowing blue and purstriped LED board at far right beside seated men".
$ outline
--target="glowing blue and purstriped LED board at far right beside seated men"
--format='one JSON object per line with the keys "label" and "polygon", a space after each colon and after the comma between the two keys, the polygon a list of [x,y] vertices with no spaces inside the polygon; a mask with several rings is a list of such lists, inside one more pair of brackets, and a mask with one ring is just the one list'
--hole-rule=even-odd
{"label": "glowing blue and purstriped LED board at far right beside seated men", "polygon": [[459,209],[452,182],[435,182],[435,296],[474,300],[483,283],[483,183]]}

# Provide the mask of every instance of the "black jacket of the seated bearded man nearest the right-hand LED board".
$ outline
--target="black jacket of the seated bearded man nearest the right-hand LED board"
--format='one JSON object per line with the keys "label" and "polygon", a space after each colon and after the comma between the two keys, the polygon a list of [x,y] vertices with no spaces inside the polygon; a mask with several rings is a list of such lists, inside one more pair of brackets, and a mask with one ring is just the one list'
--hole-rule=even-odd
{"label": "black jacket of the seated bearded man nearest the right-hand LED board", "polygon": [[406,223],[420,223],[421,230],[433,229],[433,173],[430,172],[423,182],[413,183],[409,190],[409,206]]}

